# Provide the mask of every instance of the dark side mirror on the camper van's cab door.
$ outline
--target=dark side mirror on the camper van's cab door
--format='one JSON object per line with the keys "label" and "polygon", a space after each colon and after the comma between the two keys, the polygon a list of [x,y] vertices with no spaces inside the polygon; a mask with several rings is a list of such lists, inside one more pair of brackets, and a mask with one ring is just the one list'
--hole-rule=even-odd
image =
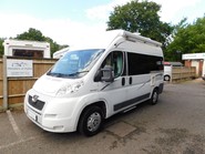
{"label": "dark side mirror on the camper van's cab door", "polygon": [[111,66],[106,66],[104,69],[101,69],[102,78],[101,81],[105,82],[113,82],[114,81],[114,72]]}

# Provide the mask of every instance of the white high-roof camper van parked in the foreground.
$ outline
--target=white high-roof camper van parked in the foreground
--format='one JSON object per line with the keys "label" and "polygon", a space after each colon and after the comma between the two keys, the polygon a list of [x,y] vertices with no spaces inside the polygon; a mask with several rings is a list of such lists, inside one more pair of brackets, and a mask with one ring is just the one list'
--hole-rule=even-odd
{"label": "white high-roof camper van parked in the foreground", "polygon": [[24,112],[45,131],[91,136],[104,119],[143,101],[155,104],[162,91],[161,43],[114,30],[69,49],[27,92]]}

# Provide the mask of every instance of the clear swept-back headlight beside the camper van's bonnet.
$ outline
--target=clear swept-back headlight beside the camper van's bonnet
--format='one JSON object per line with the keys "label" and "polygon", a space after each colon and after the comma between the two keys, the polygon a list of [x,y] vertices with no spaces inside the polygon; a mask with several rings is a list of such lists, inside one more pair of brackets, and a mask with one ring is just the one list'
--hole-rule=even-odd
{"label": "clear swept-back headlight beside the camper van's bonnet", "polygon": [[62,96],[69,93],[75,93],[79,91],[79,89],[83,85],[83,81],[81,82],[76,82],[74,84],[69,84],[65,86],[62,86],[58,92],[57,92],[57,96]]}

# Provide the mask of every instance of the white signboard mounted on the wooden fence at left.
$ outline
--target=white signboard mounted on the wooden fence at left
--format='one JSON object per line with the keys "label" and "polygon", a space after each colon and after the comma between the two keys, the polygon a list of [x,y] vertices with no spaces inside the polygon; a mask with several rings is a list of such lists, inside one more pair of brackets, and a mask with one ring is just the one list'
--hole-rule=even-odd
{"label": "white signboard mounted on the wooden fence at left", "polygon": [[7,76],[33,76],[32,60],[7,60]]}

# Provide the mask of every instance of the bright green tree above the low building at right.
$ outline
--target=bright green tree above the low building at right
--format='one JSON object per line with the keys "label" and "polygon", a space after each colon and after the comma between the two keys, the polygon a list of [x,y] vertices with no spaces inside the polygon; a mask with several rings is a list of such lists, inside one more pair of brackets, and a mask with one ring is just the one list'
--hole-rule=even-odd
{"label": "bright green tree above the low building at right", "polygon": [[182,20],[175,27],[173,41],[167,45],[165,55],[173,61],[181,61],[177,54],[205,52],[205,16],[193,24]]}

